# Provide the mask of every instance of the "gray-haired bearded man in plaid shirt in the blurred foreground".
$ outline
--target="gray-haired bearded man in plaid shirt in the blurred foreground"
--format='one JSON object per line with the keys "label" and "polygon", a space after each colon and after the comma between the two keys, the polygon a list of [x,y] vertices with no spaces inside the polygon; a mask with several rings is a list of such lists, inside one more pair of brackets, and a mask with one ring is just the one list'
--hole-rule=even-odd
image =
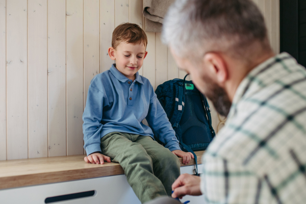
{"label": "gray-haired bearded man in plaid shirt in the blurred foreground", "polygon": [[257,6],[250,0],[177,0],[162,37],[177,65],[227,116],[202,158],[201,176],[181,175],[172,197],[305,203],[306,70],[289,54],[273,53]]}

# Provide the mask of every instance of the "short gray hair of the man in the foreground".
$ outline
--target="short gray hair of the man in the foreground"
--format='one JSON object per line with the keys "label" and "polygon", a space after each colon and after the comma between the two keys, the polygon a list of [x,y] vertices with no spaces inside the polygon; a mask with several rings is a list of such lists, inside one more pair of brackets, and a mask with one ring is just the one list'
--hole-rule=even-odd
{"label": "short gray hair of the man in the foreground", "polygon": [[183,58],[207,52],[246,57],[253,42],[270,48],[264,17],[251,0],[176,0],[165,16],[162,41]]}

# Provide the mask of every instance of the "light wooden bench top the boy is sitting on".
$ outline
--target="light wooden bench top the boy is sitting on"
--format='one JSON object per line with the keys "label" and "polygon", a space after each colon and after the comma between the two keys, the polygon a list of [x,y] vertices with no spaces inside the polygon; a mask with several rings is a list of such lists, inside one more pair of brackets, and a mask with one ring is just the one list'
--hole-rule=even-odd
{"label": "light wooden bench top the boy is sitting on", "polygon": [[[204,151],[196,151],[197,162],[201,164]],[[16,188],[79,179],[124,174],[118,163],[87,164],[86,155],[46,157],[0,161],[0,189]],[[189,164],[194,165],[194,160]]]}

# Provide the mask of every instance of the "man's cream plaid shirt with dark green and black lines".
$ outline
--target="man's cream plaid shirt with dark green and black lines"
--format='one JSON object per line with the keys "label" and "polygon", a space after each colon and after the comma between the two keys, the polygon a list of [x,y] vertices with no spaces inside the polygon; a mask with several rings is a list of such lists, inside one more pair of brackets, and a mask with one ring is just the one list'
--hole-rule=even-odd
{"label": "man's cream plaid shirt with dark green and black lines", "polygon": [[287,53],[251,70],[203,157],[207,203],[306,203],[306,69]]}

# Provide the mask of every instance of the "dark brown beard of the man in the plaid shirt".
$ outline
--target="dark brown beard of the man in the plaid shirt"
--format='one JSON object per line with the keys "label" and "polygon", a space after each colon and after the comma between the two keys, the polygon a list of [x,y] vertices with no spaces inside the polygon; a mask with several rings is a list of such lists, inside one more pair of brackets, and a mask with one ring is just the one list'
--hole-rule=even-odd
{"label": "dark brown beard of the man in the plaid shirt", "polygon": [[220,115],[227,117],[232,106],[232,102],[228,98],[227,93],[208,77],[205,77],[204,80],[207,84],[207,93],[205,95],[212,101],[216,111]]}

